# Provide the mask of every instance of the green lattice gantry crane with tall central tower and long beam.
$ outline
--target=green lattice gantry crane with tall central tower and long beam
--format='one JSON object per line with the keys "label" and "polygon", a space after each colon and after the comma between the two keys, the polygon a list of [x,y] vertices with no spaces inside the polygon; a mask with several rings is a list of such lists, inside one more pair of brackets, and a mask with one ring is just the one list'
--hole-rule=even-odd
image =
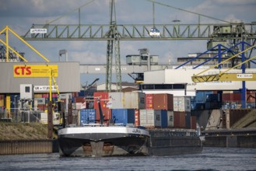
{"label": "green lattice gantry crane with tall central tower and long beam", "polygon": [[[120,40],[255,40],[254,28],[256,23],[230,23],[222,19],[205,16],[196,12],[179,9],[160,2],[153,2],[152,24],[122,24],[116,23],[114,0],[110,0],[110,24],[109,25],[57,25],[57,24],[33,24],[23,38],[25,40],[107,40],[107,66],[106,66],[106,90],[110,91],[112,76],[112,58],[115,55],[118,89],[121,89],[121,65],[120,65]],[[198,15],[198,24],[155,24],[154,5],[163,5],[168,8],[190,12]],[[222,23],[200,23],[200,17],[216,19]],[[153,30],[153,28],[157,28]],[[45,33],[34,33],[32,30],[44,29]],[[107,31],[106,31],[107,30]],[[158,36],[155,36],[157,33]],[[152,36],[150,36],[150,34]]]}

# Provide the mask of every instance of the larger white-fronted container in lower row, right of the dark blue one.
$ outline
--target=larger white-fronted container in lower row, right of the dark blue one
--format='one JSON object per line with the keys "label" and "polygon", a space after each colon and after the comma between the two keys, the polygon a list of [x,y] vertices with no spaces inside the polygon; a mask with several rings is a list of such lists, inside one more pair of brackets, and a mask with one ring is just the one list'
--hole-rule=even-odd
{"label": "larger white-fronted container in lower row, right of the dark blue one", "polygon": [[161,111],[139,110],[139,121],[143,127],[161,127]]}

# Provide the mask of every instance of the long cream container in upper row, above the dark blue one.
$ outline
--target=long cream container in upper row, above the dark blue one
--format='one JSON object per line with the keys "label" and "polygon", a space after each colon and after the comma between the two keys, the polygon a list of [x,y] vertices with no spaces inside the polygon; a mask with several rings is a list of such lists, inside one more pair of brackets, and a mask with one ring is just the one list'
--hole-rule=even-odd
{"label": "long cream container in upper row, above the dark blue one", "polygon": [[143,92],[109,92],[110,109],[145,109]]}

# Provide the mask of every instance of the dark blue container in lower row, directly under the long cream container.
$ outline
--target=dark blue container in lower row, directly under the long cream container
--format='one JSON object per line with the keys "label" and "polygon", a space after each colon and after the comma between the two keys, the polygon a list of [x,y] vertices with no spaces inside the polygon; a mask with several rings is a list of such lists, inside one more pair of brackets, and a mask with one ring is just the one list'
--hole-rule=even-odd
{"label": "dark blue container in lower row, directly under the long cream container", "polygon": [[112,109],[112,120],[114,124],[135,124],[135,110]]}

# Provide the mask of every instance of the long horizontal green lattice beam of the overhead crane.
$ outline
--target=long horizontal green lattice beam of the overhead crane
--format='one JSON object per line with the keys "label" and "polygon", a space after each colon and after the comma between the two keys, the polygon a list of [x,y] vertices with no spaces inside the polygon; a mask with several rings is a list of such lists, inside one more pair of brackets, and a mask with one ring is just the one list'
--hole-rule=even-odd
{"label": "long horizontal green lattice beam of the overhead crane", "polygon": [[[160,37],[150,37],[155,26]],[[200,23],[200,24],[136,24],[136,25],[56,25],[33,24],[25,40],[114,40],[111,29],[116,29],[119,40],[251,40],[256,39],[256,23]],[[223,28],[228,28],[224,30]],[[45,33],[31,30],[44,30]]]}

